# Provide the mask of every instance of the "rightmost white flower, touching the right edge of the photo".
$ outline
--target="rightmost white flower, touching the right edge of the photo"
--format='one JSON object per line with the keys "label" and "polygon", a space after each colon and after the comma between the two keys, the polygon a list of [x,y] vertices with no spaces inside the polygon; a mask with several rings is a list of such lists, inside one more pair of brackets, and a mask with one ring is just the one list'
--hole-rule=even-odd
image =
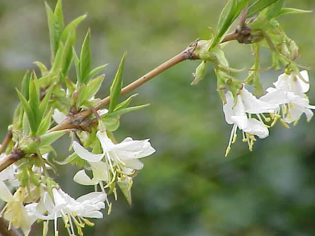
{"label": "rightmost white flower, touching the right edge of the photo", "polygon": [[286,123],[296,124],[303,113],[308,121],[313,117],[311,109],[314,110],[315,106],[309,104],[309,99],[305,94],[310,89],[308,72],[303,70],[300,74],[303,80],[293,72],[281,74],[274,83],[275,88],[268,88],[267,94],[259,98],[261,101],[278,107],[272,125],[278,118],[281,118],[285,127],[288,127]]}

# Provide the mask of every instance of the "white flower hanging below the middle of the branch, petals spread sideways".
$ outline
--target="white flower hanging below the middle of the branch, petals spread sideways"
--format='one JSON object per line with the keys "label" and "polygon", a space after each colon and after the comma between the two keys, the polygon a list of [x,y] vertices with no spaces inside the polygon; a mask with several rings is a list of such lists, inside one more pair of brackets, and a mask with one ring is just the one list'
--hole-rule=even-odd
{"label": "white flower hanging below the middle of the branch, petals spread sideways", "polygon": [[[79,143],[73,142],[73,150],[84,160],[87,160],[93,171],[93,178],[88,177],[84,170],[79,171],[74,176],[74,181],[84,185],[94,185],[99,181],[109,181],[108,169],[114,174],[114,166],[117,166],[121,172],[123,168],[140,170],[143,163],[139,158],[146,157],[154,153],[156,150],[152,148],[149,139],[132,140],[126,138],[119,144],[114,144],[106,134],[106,131],[98,131],[96,133],[98,140],[103,149],[103,153],[94,154],[83,148]],[[106,157],[106,163],[101,159]]]}

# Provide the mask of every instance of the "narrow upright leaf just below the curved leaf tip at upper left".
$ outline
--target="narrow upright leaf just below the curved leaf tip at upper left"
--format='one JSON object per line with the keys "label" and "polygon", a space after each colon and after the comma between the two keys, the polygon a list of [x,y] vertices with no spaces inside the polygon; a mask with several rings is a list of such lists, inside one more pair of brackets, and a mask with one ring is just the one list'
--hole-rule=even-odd
{"label": "narrow upright leaf just below the curved leaf tip at upper left", "polygon": [[64,44],[64,49],[63,49],[63,56],[62,56],[62,75],[63,79],[65,78],[68,69],[70,67],[72,58],[73,58],[73,52],[72,52],[72,46],[75,42],[75,32],[74,30],[72,32],[69,32],[68,38]]}

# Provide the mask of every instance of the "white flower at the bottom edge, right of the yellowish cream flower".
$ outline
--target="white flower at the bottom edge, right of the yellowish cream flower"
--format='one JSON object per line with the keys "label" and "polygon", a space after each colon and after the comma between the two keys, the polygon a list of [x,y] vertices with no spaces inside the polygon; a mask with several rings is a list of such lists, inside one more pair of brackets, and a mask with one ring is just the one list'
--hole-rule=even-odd
{"label": "white flower at the bottom edge, right of the yellowish cream flower", "polygon": [[[57,221],[63,218],[65,228],[70,236],[75,235],[74,226],[79,235],[83,235],[82,228],[85,224],[94,224],[86,218],[103,218],[101,209],[105,208],[104,201],[107,195],[103,192],[92,192],[74,200],[62,189],[52,189],[53,199],[48,192],[43,192],[39,203],[26,205],[28,212],[38,219],[54,220],[55,236],[58,236]],[[48,212],[43,214],[43,212]]]}

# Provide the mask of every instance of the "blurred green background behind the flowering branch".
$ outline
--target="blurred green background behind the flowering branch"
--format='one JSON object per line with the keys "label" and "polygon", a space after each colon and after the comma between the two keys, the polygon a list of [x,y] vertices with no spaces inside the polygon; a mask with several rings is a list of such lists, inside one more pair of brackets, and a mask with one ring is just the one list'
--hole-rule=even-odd
{"label": "blurred green background behind the flowering branch", "polygon": [[[93,65],[110,63],[98,93],[104,97],[124,51],[128,52],[126,85],[196,38],[208,39],[208,27],[216,26],[225,2],[63,0],[63,10],[66,22],[88,13],[78,28],[77,50],[90,27]],[[56,1],[48,3],[54,7]],[[315,1],[287,0],[286,6],[310,10],[315,9]],[[0,0],[0,137],[18,103],[15,87],[20,87],[25,70],[35,69],[36,60],[49,65],[45,14],[42,0]],[[314,13],[284,16],[280,23],[300,47],[299,63],[314,68]],[[252,66],[249,46],[231,42],[225,52],[232,67]],[[261,60],[261,67],[269,66],[269,52],[263,52]],[[252,152],[239,137],[224,158],[232,127],[225,122],[211,66],[203,81],[189,85],[198,63],[185,61],[135,91],[140,94],[133,104],[151,106],[125,115],[115,134],[119,141],[126,136],[151,138],[157,152],[143,160],[145,167],[134,178],[132,207],[121,193],[117,202],[111,197],[112,213],[95,220],[95,227],[86,228],[85,234],[314,236],[315,119],[307,123],[303,117],[290,130],[278,123],[268,138],[255,143]],[[238,76],[242,79],[246,74]],[[279,74],[263,72],[264,87],[271,86]],[[311,71],[311,83],[314,76]],[[314,85],[308,95],[315,104]],[[65,158],[69,142],[63,139],[56,145],[58,159]],[[62,166],[57,177],[75,198],[91,190],[73,182],[76,171]],[[31,235],[40,231],[41,225],[36,225]]]}

